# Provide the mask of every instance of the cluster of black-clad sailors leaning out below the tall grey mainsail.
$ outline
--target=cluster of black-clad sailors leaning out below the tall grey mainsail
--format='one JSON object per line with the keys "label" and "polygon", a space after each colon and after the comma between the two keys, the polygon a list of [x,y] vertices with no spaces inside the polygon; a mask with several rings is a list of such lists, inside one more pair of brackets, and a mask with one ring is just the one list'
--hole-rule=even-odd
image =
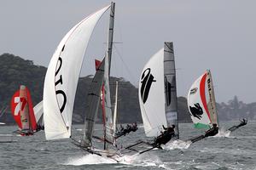
{"label": "cluster of black-clad sailors leaning out below the tall grey mainsail", "polygon": [[161,132],[161,134],[154,139],[154,143],[152,144],[153,146],[160,146],[160,144],[166,144],[172,139],[172,137],[175,136],[175,125],[172,125],[172,127],[164,127],[163,125],[163,128],[165,131]]}

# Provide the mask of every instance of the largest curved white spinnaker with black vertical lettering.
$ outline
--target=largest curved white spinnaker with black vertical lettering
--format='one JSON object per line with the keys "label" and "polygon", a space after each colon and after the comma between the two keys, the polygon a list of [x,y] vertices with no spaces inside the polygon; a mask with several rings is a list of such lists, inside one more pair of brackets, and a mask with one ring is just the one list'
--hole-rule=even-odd
{"label": "largest curved white spinnaker with black vertical lettering", "polygon": [[73,103],[90,35],[108,7],[80,21],[63,37],[53,54],[44,80],[46,139],[71,136]]}

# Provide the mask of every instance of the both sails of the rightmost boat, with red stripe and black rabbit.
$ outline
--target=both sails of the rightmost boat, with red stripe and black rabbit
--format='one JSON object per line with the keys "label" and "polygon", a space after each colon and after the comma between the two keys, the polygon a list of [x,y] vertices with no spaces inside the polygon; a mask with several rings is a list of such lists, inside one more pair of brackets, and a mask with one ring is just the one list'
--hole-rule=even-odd
{"label": "both sails of the rightmost boat, with red stripe and black rabbit", "polygon": [[212,127],[218,125],[218,116],[213,92],[212,76],[206,71],[189,89],[188,107],[195,127]]}

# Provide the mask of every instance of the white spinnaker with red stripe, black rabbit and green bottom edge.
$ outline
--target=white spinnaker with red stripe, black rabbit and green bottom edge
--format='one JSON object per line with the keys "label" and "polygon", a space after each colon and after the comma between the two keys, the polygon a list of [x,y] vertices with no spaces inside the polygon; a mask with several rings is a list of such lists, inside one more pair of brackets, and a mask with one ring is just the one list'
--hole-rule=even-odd
{"label": "white spinnaker with red stripe, black rabbit and green bottom edge", "polygon": [[189,89],[188,94],[188,107],[192,122],[195,127],[207,127],[211,126],[211,120],[207,114],[207,107],[203,104],[204,95],[206,92],[206,77],[207,73],[204,73],[199,77]]}

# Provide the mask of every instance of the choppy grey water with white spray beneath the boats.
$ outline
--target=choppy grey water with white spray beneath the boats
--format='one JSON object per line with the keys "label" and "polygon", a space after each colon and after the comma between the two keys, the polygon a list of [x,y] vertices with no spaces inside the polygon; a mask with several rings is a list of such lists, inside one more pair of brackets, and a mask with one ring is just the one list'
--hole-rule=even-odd
{"label": "choppy grey water with white spray beneath the boats", "polygon": [[[222,127],[231,127],[238,122],[223,122]],[[82,126],[74,126],[76,129]],[[96,125],[96,128],[101,126]],[[164,150],[152,150],[143,155],[125,155],[120,163],[89,155],[74,146],[69,139],[46,141],[44,132],[34,136],[15,136],[14,143],[0,146],[0,169],[256,169],[256,122],[248,122],[233,133],[221,130],[218,137],[203,139],[195,144],[183,140],[201,134],[190,123],[180,124],[179,141],[166,144]],[[0,133],[7,134],[16,127],[1,127]],[[73,130],[73,135],[82,133]],[[6,138],[0,136],[0,138]],[[143,128],[130,133],[119,142],[131,144],[145,139]],[[1,139],[0,139],[1,140]]]}

